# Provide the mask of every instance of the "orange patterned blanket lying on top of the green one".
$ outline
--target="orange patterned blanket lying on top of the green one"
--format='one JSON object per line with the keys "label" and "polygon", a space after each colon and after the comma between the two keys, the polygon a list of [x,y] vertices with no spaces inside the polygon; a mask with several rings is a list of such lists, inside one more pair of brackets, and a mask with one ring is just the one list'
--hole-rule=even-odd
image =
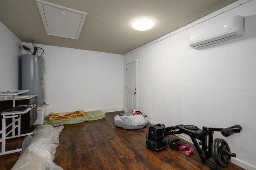
{"label": "orange patterned blanket lying on top of the green one", "polygon": [[48,121],[57,120],[57,119],[70,119],[74,117],[82,117],[86,116],[86,113],[81,111],[74,111],[74,112],[60,112],[60,113],[49,113],[48,114]]}

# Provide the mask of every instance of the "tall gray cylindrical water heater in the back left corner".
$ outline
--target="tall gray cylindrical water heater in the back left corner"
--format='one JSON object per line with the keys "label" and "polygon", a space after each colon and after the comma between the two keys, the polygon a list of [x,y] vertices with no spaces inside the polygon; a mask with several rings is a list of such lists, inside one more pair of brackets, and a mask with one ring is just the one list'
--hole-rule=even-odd
{"label": "tall gray cylindrical water heater in the back left corner", "polygon": [[23,95],[36,95],[37,105],[44,104],[44,58],[40,55],[21,55],[21,88]]}

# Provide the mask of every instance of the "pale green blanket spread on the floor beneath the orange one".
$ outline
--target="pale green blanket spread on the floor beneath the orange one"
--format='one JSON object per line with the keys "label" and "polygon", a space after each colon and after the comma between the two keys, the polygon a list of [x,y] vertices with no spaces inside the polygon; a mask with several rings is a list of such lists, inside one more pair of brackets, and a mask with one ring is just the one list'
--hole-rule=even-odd
{"label": "pale green blanket spread on the floor beneath the orange one", "polygon": [[83,117],[74,117],[70,119],[60,119],[60,120],[53,120],[53,121],[48,121],[46,116],[44,118],[44,124],[52,125],[53,127],[60,126],[60,125],[72,125],[72,124],[81,123],[84,121],[95,121],[98,119],[103,119],[105,117],[106,115],[103,111],[91,111],[91,112],[86,112],[86,116],[83,116]]}

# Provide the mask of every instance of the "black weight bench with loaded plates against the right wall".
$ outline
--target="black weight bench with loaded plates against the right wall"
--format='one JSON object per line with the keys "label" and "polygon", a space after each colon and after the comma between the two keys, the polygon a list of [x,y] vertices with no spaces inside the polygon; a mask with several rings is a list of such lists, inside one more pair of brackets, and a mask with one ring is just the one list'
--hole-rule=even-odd
{"label": "black weight bench with loaded plates against the right wall", "polygon": [[[216,164],[223,168],[227,168],[230,165],[231,156],[236,157],[235,153],[230,152],[228,143],[224,139],[216,138],[213,140],[214,131],[221,132],[223,136],[227,137],[234,133],[239,133],[241,130],[242,127],[240,125],[234,125],[228,128],[203,127],[202,129],[194,125],[176,125],[165,128],[166,135],[184,133],[190,136],[202,163],[212,169],[217,169]],[[200,142],[197,142],[196,139],[200,140]],[[170,140],[169,144],[172,148],[176,148],[176,146],[174,146],[175,143],[170,142]],[[199,145],[202,145],[202,149]],[[211,157],[213,157],[216,164],[208,160]]]}

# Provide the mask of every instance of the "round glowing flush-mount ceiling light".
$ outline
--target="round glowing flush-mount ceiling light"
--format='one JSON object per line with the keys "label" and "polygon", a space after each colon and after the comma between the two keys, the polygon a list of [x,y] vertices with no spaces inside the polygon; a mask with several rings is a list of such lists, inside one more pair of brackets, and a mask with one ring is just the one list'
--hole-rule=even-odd
{"label": "round glowing flush-mount ceiling light", "polygon": [[138,31],[146,31],[155,25],[154,21],[150,18],[139,18],[132,22],[132,28]]}

